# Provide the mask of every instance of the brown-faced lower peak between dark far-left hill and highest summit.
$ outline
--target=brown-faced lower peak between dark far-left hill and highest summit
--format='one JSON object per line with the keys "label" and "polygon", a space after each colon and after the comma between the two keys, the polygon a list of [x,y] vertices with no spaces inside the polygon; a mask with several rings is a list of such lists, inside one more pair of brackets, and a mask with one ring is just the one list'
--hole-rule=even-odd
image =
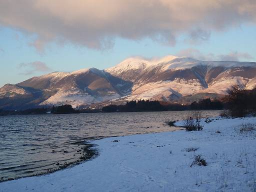
{"label": "brown-faced lower peak between dark far-left hill and highest summit", "polygon": [[47,89],[56,92],[40,104],[71,104],[73,107],[119,98],[130,92],[131,83],[96,68],[65,73]]}

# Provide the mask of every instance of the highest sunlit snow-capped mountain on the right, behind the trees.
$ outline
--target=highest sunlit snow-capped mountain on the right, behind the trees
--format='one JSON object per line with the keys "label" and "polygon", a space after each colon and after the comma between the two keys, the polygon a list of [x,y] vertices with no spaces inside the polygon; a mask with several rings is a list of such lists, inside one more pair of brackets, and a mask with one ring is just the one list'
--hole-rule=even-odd
{"label": "highest sunlit snow-capped mountain on the right, behind the trees", "polygon": [[168,90],[178,92],[179,96],[200,92],[226,94],[232,84],[245,88],[256,84],[255,62],[200,61],[169,55],[151,60],[128,58],[106,71],[133,82],[132,93],[125,97],[128,100],[171,100],[172,92]]}

